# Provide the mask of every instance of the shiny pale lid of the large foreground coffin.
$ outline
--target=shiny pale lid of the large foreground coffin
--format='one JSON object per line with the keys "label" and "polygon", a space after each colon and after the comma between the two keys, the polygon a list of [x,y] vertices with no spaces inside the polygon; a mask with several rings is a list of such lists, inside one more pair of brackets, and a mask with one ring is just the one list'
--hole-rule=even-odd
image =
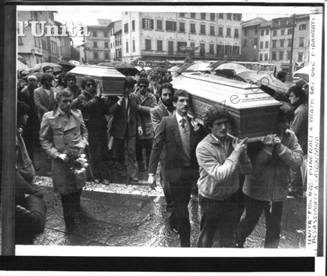
{"label": "shiny pale lid of the large foreground coffin", "polygon": [[185,89],[191,97],[222,103],[232,109],[281,105],[257,85],[204,73],[182,73],[172,81],[175,89]]}

